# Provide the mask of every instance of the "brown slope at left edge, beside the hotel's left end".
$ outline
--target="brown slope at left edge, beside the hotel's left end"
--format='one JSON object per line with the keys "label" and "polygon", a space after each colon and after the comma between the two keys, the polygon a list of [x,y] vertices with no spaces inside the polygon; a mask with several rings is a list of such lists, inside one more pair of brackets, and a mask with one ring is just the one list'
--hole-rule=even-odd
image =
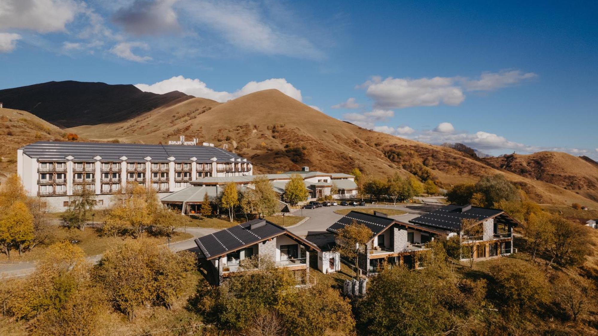
{"label": "brown slope at left edge, beside the hotel's left end", "polygon": [[0,108],[0,182],[16,173],[17,149],[41,140],[64,140],[66,133],[29,112]]}

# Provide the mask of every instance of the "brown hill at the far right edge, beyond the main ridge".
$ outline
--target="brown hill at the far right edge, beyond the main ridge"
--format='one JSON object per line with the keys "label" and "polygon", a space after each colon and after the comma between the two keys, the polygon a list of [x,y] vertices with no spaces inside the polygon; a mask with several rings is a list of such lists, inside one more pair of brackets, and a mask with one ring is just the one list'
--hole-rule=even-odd
{"label": "brown hill at the far right edge, beyond the main ridge", "polygon": [[598,166],[584,158],[563,152],[537,152],[484,160],[517,175],[548,182],[598,201]]}

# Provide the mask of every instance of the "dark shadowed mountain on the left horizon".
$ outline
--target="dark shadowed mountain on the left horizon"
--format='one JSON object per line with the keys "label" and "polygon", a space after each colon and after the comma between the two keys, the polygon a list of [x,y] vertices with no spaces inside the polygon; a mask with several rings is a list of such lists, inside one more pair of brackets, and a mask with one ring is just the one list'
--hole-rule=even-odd
{"label": "dark shadowed mountain on the left horizon", "polygon": [[0,90],[0,102],[5,107],[28,111],[61,127],[114,123],[192,97],[179,91],[144,92],[130,84],[77,81],[52,81]]}

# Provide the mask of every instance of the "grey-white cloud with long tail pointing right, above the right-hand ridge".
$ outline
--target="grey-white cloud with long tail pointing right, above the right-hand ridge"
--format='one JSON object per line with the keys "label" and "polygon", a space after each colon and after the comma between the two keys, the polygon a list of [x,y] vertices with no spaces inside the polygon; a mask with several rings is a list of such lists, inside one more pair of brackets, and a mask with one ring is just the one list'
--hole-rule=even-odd
{"label": "grey-white cloud with long tail pointing right, above the right-hand ridge", "polygon": [[413,106],[457,106],[465,100],[463,91],[492,91],[535,78],[533,72],[518,70],[483,72],[479,79],[466,77],[392,78],[373,76],[356,88],[374,100],[374,108],[395,109]]}

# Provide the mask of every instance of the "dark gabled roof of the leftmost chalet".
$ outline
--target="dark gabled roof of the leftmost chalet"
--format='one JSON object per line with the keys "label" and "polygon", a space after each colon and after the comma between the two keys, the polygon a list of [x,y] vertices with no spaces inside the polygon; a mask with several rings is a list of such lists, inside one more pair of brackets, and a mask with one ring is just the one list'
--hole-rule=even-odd
{"label": "dark gabled roof of the leftmost chalet", "polygon": [[253,219],[251,221],[225,228],[218,232],[208,234],[195,240],[206,259],[213,259],[238,249],[251,246],[264,240],[286,234],[297,242],[320,251],[318,246],[266,219]]}

